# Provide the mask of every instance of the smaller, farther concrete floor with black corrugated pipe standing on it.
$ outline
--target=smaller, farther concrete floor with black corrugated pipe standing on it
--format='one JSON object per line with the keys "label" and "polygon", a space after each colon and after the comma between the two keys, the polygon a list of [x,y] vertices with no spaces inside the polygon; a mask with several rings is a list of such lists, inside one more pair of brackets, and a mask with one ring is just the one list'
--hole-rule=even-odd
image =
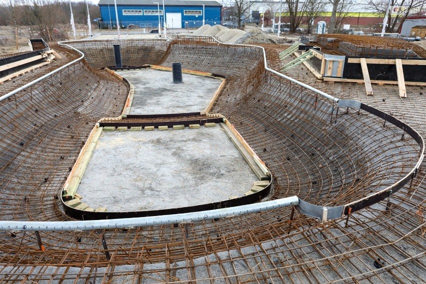
{"label": "smaller, farther concrete floor with black corrugated pipe standing on it", "polygon": [[164,114],[203,111],[221,81],[183,74],[173,83],[171,71],[155,69],[116,71],[134,86],[129,114]]}

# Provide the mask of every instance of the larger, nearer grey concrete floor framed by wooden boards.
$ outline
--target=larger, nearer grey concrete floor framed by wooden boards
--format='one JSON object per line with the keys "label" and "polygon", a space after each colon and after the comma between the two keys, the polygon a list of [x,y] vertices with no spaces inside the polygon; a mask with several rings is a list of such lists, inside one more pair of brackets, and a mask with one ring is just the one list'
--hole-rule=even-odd
{"label": "larger, nearer grey concrete floor framed by wooden boards", "polygon": [[103,131],[77,193],[93,208],[155,210],[243,196],[254,180],[219,125]]}

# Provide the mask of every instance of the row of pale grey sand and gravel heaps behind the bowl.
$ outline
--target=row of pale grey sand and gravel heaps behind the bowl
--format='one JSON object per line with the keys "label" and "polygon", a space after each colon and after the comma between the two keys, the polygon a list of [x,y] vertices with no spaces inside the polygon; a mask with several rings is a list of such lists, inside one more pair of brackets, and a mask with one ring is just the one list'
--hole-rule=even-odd
{"label": "row of pale grey sand and gravel heaps behind the bowl", "polygon": [[229,29],[223,25],[203,25],[195,30],[194,35],[212,35],[224,43],[276,43],[260,28],[253,27],[246,32],[241,29]]}

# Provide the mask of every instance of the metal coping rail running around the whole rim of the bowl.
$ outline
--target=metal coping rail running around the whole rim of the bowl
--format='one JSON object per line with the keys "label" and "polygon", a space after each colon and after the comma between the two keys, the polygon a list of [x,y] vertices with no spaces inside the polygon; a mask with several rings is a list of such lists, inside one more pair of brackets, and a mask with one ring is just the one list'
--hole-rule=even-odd
{"label": "metal coping rail running around the whole rim of the bowl", "polygon": [[[253,45],[247,45],[247,44],[226,44],[218,41],[216,38],[212,37],[213,40],[217,41],[220,44],[225,45],[239,45],[239,46],[253,46]],[[79,41],[79,40],[78,40]],[[78,42],[78,41],[67,41],[67,42]],[[0,101],[25,89],[26,87],[48,77],[49,75],[63,69],[66,66],[69,66],[78,60],[81,60],[84,57],[84,54],[75,49],[72,46],[69,46],[66,43],[59,42],[61,45],[66,45],[74,50],[76,50],[78,53],[81,54],[81,56],[61,67],[58,69],[51,71],[40,78],[25,84],[24,86],[17,88],[16,90],[9,92],[3,96],[0,97]],[[255,45],[254,45],[255,46]],[[420,145],[420,153],[419,153],[419,159],[416,163],[416,165],[409,171],[408,174],[406,174],[402,179],[400,179],[395,184],[384,188],[378,192],[375,192],[372,195],[365,196],[364,198],[361,198],[359,200],[352,201],[350,203],[347,203],[345,205],[340,206],[318,206],[313,205],[308,202],[305,202],[301,199],[299,199],[297,196],[291,196],[286,197],[282,199],[276,199],[276,200],[270,200],[265,202],[259,202],[259,203],[253,203],[253,204],[247,204],[247,205],[241,205],[241,206],[235,206],[235,207],[229,207],[229,208],[220,208],[220,209],[214,209],[214,210],[207,210],[207,211],[198,211],[198,212],[190,212],[190,213],[181,213],[181,214],[171,214],[171,215],[159,215],[159,216],[149,216],[149,217],[136,217],[136,218],[121,218],[121,219],[106,219],[106,220],[86,220],[86,221],[0,221],[0,230],[33,230],[33,231],[52,231],[52,230],[58,230],[58,231],[64,231],[64,230],[83,230],[83,229],[105,229],[105,228],[123,228],[123,227],[132,227],[132,226],[147,226],[147,225],[157,225],[157,224],[170,224],[170,223],[179,223],[179,222],[191,222],[191,221],[199,221],[203,219],[213,219],[213,218],[219,218],[219,217],[226,217],[226,216],[232,216],[232,215],[240,215],[240,214],[246,214],[251,212],[257,212],[257,211],[263,211],[263,210],[270,210],[273,208],[278,207],[284,207],[289,205],[298,205],[298,210],[301,213],[317,217],[322,219],[323,221],[326,221],[327,219],[333,219],[338,218],[343,215],[349,215],[350,212],[354,212],[355,210],[359,210],[361,208],[364,208],[372,203],[378,202],[380,200],[383,200],[385,197],[390,196],[393,192],[401,188],[404,184],[408,182],[408,180],[414,178],[415,174],[417,173],[418,169],[420,168],[420,164],[424,157],[424,141],[423,138],[419,135],[415,129],[410,127],[409,125],[403,123],[399,119],[396,119],[395,117],[388,115],[378,109],[372,108],[368,105],[365,105],[359,101],[356,100],[346,100],[346,99],[337,99],[325,92],[322,92],[312,86],[309,86],[305,83],[299,82],[291,77],[288,77],[284,74],[281,74],[269,67],[267,67],[267,61],[266,61],[266,53],[263,47],[256,46],[258,48],[261,48],[263,52],[263,62],[264,62],[264,68],[265,70],[283,77],[293,83],[296,83],[308,90],[311,90],[327,99],[330,99],[334,102],[337,102],[337,106],[340,107],[353,107],[356,109],[363,109],[367,112],[370,112],[378,117],[382,117],[385,119],[385,121],[389,121],[390,123],[394,124],[395,126],[401,128],[404,132],[406,131],[411,137],[413,137],[417,143]],[[393,190],[393,192],[392,192]]]}

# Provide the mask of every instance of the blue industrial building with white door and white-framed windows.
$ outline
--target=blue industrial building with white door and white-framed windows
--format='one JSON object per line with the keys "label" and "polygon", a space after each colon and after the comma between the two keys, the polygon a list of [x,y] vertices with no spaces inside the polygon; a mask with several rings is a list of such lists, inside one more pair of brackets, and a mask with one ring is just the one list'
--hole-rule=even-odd
{"label": "blue industrial building with white door and white-framed windows", "polygon": [[[157,2],[159,2],[157,4]],[[217,1],[209,0],[116,0],[118,21],[121,27],[157,28],[163,26],[164,14],[168,28],[199,27],[205,24],[220,24],[221,7]],[[114,0],[99,0],[102,27],[115,27]],[[204,8],[203,8],[204,5]],[[159,15],[159,17],[158,17]]]}

